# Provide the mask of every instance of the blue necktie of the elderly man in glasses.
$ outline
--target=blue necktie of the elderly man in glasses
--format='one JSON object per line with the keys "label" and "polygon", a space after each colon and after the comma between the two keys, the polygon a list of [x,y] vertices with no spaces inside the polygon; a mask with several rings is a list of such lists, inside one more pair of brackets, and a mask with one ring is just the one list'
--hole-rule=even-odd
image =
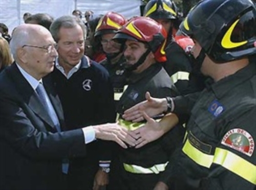
{"label": "blue necktie of the elderly man in glasses", "polygon": [[[46,93],[46,90],[41,83],[39,83],[39,85],[37,86],[36,92],[39,96],[39,99],[40,99],[42,105],[44,105],[47,113],[49,114],[50,118],[52,119],[54,126],[56,127],[57,131],[60,132],[61,129],[60,129],[60,124],[59,124],[59,120],[57,118],[56,112],[54,111],[54,108],[53,108],[52,103]],[[69,160],[67,158],[62,159],[62,172],[67,174],[68,170],[69,170]]]}

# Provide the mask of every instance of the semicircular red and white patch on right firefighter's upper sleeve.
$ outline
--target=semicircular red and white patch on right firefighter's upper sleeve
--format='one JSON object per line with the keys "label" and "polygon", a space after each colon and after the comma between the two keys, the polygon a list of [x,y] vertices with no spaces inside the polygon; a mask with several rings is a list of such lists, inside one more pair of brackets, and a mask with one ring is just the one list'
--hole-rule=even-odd
{"label": "semicircular red and white patch on right firefighter's upper sleeve", "polygon": [[254,151],[254,140],[244,129],[234,128],[223,137],[221,144],[251,156]]}

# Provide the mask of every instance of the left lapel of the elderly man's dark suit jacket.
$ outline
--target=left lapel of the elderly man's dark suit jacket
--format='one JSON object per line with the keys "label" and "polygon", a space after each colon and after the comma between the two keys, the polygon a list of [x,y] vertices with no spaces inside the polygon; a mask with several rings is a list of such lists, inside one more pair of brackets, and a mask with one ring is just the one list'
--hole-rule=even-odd
{"label": "left lapel of the elderly man's dark suit jacket", "polygon": [[49,126],[55,129],[52,119],[48,115],[45,107],[40,102],[36,92],[30,86],[26,78],[20,73],[16,64],[10,66],[9,73],[14,80],[17,91],[22,96],[24,102],[31,108],[31,110],[42,120],[44,120]]}

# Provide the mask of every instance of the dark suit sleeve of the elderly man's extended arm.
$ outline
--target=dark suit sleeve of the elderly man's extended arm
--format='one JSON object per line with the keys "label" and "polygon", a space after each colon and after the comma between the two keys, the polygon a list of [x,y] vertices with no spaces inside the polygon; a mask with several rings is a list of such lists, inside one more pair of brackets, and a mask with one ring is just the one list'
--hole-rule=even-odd
{"label": "dark suit sleeve of the elderly man's extended arm", "polygon": [[1,141],[31,159],[60,159],[86,154],[81,129],[51,132],[51,127],[18,97],[15,90],[9,92],[0,91]]}

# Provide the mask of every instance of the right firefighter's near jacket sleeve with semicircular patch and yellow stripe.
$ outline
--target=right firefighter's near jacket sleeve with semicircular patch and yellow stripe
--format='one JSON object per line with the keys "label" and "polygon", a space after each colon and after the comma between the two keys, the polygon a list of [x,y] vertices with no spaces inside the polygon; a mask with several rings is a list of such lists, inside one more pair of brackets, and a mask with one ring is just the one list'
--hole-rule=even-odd
{"label": "right firefighter's near jacket sleeve with semicircular patch and yellow stripe", "polygon": [[[256,106],[231,119],[220,132],[210,176],[204,189],[255,189],[256,185]],[[215,187],[219,188],[215,188]]]}

